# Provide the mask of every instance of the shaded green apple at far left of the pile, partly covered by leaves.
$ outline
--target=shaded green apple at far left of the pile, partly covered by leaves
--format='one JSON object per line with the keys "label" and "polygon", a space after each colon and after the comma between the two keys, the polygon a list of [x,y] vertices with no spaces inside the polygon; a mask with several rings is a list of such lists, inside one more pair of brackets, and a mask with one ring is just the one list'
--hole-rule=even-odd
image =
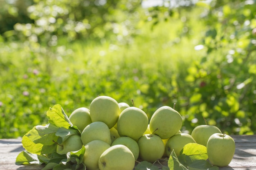
{"label": "shaded green apple at far left of the pile, partly covered by leaves", "polygon": [[79,135],[71,135],[62,144],[57,145],[56,152],[63,155],[67,154],[67,152],[79,150],[82,146],[81,137]]}

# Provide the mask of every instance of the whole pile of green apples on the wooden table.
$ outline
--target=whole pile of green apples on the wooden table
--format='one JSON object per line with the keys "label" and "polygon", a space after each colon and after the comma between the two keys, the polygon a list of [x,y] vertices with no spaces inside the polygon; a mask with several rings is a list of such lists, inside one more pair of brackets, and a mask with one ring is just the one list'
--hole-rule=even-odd
{"label": "whole pile of green apples on the wooden table", "polygon": [[235,152],[234,140],[216,126],[200,125],[191,135],[182,133],[182,116],[169,106],[155,110],[149,120],[140,108],[98,96],[90,109],[77,108],[69,119],[81,135],[71,135],[57,146],[57,153],[85,146],[87,170],[133,170],[136,161],[154,163],[171,152],[178,156],[189,143],[206,146],[215,166],[228,166]]}

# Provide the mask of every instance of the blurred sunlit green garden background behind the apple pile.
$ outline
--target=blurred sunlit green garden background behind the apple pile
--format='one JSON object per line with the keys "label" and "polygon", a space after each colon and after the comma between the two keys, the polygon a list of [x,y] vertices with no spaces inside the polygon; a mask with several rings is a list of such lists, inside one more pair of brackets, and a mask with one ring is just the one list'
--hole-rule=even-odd
{"label": "blurred sunlit green garden background behind the apple pile", "polygon": [[183,132],[203,117],[228,134],[256,132],[254,0],[0,2],[0,138],[97,95],[133,99],[149,118],[176,103]]}

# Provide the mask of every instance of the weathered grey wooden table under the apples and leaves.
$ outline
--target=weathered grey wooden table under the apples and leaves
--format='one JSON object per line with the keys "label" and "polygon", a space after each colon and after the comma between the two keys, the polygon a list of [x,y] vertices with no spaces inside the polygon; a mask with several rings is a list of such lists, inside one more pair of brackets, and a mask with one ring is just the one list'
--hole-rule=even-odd
{"label": "weathered grey wooden table under the apples and leaves", "polygon": [[[233,135],[236,152],[231,163],[220,170],[256,170],[256,135]],[[0,170],[41,170],[44,166],[18,166],[17,155],[24,150],[21,139],[0,139]]]}

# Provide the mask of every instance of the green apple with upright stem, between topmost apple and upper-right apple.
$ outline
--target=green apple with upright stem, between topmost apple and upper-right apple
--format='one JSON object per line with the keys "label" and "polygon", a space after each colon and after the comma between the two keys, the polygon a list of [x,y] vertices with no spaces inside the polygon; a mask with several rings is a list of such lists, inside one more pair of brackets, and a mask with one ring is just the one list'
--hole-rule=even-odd
{"label": "green apple with upright stem, between topmost apple and upper-right apple", "polygon": [[124,109],[117,120],[117,131],[120,136],[139,139],[148,127],[148,116],[140,108]]}

